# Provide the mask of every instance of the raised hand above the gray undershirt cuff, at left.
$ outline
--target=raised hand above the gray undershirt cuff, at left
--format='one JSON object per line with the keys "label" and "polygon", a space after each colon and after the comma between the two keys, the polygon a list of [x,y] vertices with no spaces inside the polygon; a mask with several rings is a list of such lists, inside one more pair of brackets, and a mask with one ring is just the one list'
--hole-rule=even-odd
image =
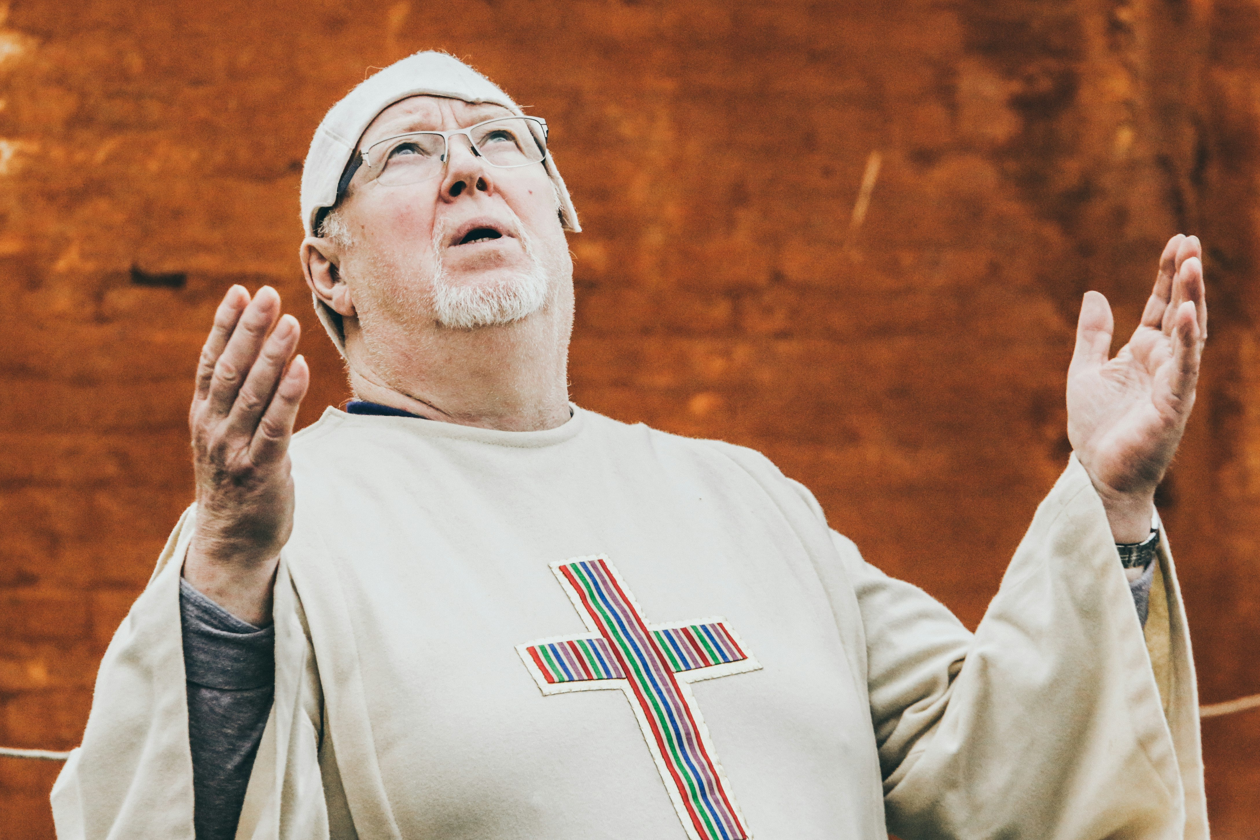
{"label": "raised hand above the gray undershirt cuff, at left", "polygon": [[[278,321],[277,321],[278,317]],[[233,286],[214,314],[188,413],[197,528],[184,577],[238,618],[271,621],[280,549],[294,528],[289,440],[310,383],[301,327],[280,295]]]}

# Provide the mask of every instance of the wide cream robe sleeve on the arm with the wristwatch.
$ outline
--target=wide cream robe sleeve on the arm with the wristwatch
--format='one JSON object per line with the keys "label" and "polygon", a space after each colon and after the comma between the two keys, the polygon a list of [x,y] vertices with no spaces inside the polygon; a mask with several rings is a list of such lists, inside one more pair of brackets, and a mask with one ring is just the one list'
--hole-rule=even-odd
{"label": "wide cream robe sleeve on the arm with the wristwatch", "polygon": [[1194,670],[1172,555],[1160,549],[1144,635],[1101,500],[1075,456],[974,636],[852,543],[835,543],[866,630],[891,831],[1206,840]]}

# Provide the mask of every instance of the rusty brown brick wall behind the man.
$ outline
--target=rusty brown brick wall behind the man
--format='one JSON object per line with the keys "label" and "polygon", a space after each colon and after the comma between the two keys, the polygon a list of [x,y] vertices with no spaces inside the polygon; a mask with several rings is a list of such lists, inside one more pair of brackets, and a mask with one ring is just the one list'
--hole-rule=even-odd
{"label": "rusty brown brick wall behind the man", "polygon": [[[1260,691],[1254,3],[0,8],[0,743],[77,742],[189,501],[224,288],[272,283],[302,320],[304,422],[344,399],[296,261],[301,160],[365,68],[422,48],[553,126],[586,225],[575,399],[761,448],[971,625],[1067,456],[1081,292],[1126,332],[1163,241],[1202,236],[1212,340],[1163,513],[1205,701]],[[184,280],[135,282],[156,275]],[[1251,836],[1260,712],[1205,729],[1216,836]],[[0,835],[52,836],[55,771],[0,759]]]}

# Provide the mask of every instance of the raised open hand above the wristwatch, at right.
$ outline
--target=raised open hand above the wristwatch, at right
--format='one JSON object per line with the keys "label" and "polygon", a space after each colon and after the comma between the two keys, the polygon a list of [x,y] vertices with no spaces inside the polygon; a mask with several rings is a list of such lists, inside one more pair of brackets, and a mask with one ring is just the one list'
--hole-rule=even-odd
{"label": "raised open hand above the wristwatch, at right", "polygon": [[1118,543],[1145,539],[1155,486],[1194,406],[1207,339],[1202,248],[1177,234],[1142,324],[1114,359],[1111,307],[1086,292],[1067,369],[1067,437],[1102,497]]}

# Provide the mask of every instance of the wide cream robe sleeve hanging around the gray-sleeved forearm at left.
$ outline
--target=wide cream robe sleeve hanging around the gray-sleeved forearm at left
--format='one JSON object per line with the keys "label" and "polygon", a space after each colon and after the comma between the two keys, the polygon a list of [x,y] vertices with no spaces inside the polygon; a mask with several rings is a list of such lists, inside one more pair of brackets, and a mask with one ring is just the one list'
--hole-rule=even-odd
{"label": "wide cream robe sleeve hanging around the gray-sleeved forearm at left", "polygon": [[[83,742],[53,785],[59,840],[195,840],[179,603],[194,515],[195,506],[180,518],[101,661]],[[319,743],[323,698],[284,554],[275,593],[275,701],[236,836],[329,840]]]}

